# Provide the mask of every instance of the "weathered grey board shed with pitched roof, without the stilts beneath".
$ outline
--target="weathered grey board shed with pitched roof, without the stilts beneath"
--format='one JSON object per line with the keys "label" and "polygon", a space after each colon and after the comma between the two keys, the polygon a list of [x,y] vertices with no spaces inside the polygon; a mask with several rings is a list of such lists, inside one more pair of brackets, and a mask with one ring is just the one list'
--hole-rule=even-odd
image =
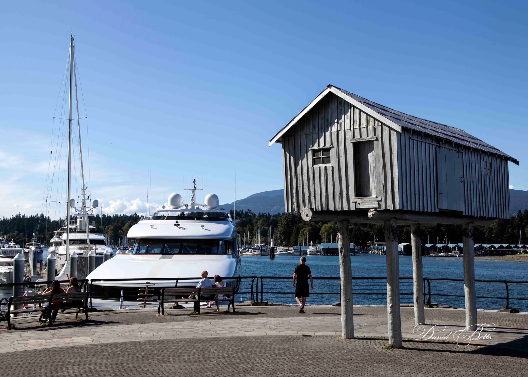
{"label": "weathered grey board shed with pitched roof, without the stilts beneath", "polygon": [[510,217],[511,156],[465,131],[329,85],[270,140],[286,212],[362,209]]}

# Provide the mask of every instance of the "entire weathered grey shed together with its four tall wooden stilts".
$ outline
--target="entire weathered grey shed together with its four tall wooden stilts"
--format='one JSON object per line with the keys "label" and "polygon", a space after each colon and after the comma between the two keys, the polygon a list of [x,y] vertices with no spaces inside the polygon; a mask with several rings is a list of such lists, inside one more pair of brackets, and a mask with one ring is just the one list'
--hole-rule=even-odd
{"label": "entire weathered grey shed together with its four tall wooden stilts", "polygon": [[398,239],[411,225],[414,316],[424,321],[420,225],[463,225],[466,325],[477,323],[473,224],[510,218],[508,161],[465,131],[328,85],[269,141],[282,144],[287,212],[336,221],[342,330],[353,337],[349,222],[385,225],[389,341],[401,346]]}

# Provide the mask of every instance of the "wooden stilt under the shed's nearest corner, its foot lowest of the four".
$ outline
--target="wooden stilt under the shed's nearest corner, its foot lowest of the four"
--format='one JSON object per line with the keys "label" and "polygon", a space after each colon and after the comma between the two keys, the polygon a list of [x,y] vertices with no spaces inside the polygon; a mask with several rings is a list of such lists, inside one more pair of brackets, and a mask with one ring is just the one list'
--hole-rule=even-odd
{"label": "wooden stilt under the shed's nearest corner, its foot lowest of the four", "polygon": [[385,247],[387,260],[387,321],[389,343],[401,348],[400,319],[400,259],[396,220],[385,221]]}

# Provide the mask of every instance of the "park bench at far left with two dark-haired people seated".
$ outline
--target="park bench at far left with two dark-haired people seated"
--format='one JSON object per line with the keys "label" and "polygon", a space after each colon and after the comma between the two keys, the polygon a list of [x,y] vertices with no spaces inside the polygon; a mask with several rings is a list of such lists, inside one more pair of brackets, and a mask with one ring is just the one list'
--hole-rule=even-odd
{"label": "park bench at far left with two dark-haired people seated", "polygon": [[[39,322],[42,321],[42,315],[46,314],[46,317],[50,319],[49,325],[51,326],[51,312],[54,310],[51,306],[54,303],[61,303],[61,307],[56,309],[78,309],[75,318],[77,319],[79,313],[83,312],[88,321],[88,292],[77,292],[2,298],[0,299],[0,322],[7,321],[7,327],[11,330],[12,314],[41,312]],[[3,309],[2,306],[6,306],[6,308]]]}

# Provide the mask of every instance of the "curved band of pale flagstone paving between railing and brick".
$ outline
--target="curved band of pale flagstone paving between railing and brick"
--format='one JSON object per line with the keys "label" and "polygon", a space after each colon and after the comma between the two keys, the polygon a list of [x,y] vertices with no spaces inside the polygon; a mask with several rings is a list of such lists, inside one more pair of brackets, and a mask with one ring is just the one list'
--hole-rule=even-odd
{"label": "curved band of pale flagstone paving between railing and brick", "polygon": [[[388,327],[383,307],[355,308],[355,335],[359,337],[386,337]],[[456,318],[462,314],[460,310],[436,309],[428,312],[431,325],[414,326],[409,317],[409,310],[402,308],[402,336],[405,339],[441,340],[454,342],[459,345],[468,342],[461,339],[457,332],[464,330],[464,322],[443,321],[442,317]],[[411,308],[412,309],[412,308]],[[73,345],[106,344],[120,342],[176,340],[183,338],[209,337],[248,337],[248,336],[332,336],[341,335],[340,308],[308,307],[306,315],[295,313],[295,307],[251,307],[243,308],[237,314],[222,314],[210,316],[185,315],[188,309],[172,310],[171,313],[180,315],[156,316],[153,310],[129,310],[128,312],[93,313],[92,321],[88,323],[74,323],[68,315],[58,317],[58,326],[22,328],[15,331],[0,332],[0,353],[34,350],[36,348],[56,348]],[[363,312],[363,313],[360,313]],[[455,312],[455,313],[452,313]],[[277,313],[281,317],[275,317]],[[310,314],[311,313],[311,314]],[[412,312],[410,312],[412,314]],[[284,315],[291,316],[284,316]],[[440,318],[435,319],[434,317]],[[496,312],[479,313],[481,320],[506,318],[504,322],[518,322],[518,327],[507,327],[496,324],[497,328],[485,328],[482,333],[474,334],[470,341],[473,345],[510,346],[515,350],[528,350],[528,316],[524,313],[510,314]],[[513,317],[517,316],[517,317]],[[128,319],[140,319],[143,323],[127,323]],[[509,318],[509,319],[508,319]],[[514,320],[511,318],[515,318]],[[30,321],[25,318],[24,321]],[[34,318],[31,320],[34,321]],[[30,321],[30,322],[31,322]],[[133,321],[132,321],[133,322]],[[486,321],[491,322],[491,321]],[[479,323],[481,323],[479,321]],[[523,325],[524,324],[524,325]],[[446,325],[446,326],[444,326]],[[486,335],[487,334],[487,335]],[[464,335],[464,334],[459,334]],[[479,339],[476,337],[480,335]]]}

